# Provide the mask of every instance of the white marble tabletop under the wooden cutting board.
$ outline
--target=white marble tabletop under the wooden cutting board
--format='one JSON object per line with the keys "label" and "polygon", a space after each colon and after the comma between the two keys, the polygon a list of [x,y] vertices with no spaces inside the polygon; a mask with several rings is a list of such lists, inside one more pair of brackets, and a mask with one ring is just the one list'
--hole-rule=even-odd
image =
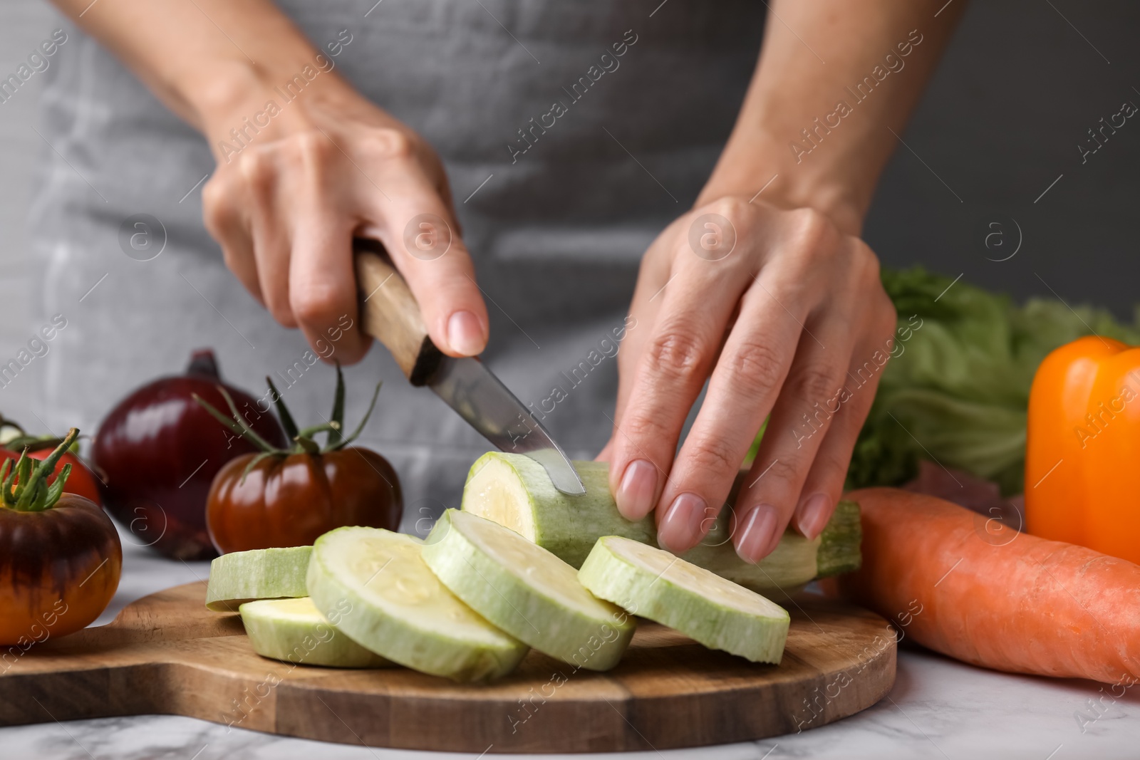
{"label": "white marble tabletop under the wooden cutting board", "polygon": [[[153,591],[206,577],[207,563],[162,559],[123,536],[123,580],[109,622],[123,605]],[[1140,645],[1140,643],[1138,643]],[[799,735],[693,750],[580,755],[780,760],[781,758],[959,758],[1070,760],[1140,758],[1140,688],[1119,700],[1098,684],[990,672],[920,651],[901,651],[898,679],[870,710]],[[1082,733],[1075,713],[1100,718]],[[46,722],[0,729],[2,760],[394,760],[472,755],[412,752],[284,738],[193,718],[139,716]],[[521,757],[521,755],[512,755]],[[568,755],[544,755],[549,758]]]}

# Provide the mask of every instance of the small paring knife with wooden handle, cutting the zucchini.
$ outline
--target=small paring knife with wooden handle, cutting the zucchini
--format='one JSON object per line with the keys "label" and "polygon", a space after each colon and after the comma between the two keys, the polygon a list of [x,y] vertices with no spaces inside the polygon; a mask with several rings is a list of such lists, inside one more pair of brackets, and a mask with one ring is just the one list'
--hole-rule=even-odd
{"label": "small paring knife with wooden handle, cutting the zucchini", "polygon": [[355,238],[360,322],[392,353],[415,386],[426,385],[500,451],[524,453],[546,469],[554,488],[586,488],[543,424],[478,357],[456,359],[435,348],[408,284],[378,240]]}

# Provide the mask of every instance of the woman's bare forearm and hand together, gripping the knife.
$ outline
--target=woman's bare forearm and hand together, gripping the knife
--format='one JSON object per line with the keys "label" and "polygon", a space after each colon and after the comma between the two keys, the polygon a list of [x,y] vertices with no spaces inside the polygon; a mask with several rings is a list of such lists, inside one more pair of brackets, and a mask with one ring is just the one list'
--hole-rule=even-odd
{"label": "woman's bare forearm and hand together, gripping the knife", "polygon": [[482,351],[487,309],[443,166],[340,77],[349,30],[326,43],[331,57],[274,0],[54,2],[205,136],[218,161],[202,190],[206,229],[250,293],[321,358],[332,336],[344,362],[368,350],[355,235],[384,244],[443,353]]}

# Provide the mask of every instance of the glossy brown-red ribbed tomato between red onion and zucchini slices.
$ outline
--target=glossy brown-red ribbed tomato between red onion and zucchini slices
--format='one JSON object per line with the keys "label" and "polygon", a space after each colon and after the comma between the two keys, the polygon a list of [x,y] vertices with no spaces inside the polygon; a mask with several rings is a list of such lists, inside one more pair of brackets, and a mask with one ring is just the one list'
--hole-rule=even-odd
{"label": "glossy brown-red ribbed tomato between red onion and zucchini slices", "polygon": [[396,471],[375,451],[356,447],[231,459],[206,498],[206,528],[222,554],[308,546],[342,525],[394,531],[402,513]]}

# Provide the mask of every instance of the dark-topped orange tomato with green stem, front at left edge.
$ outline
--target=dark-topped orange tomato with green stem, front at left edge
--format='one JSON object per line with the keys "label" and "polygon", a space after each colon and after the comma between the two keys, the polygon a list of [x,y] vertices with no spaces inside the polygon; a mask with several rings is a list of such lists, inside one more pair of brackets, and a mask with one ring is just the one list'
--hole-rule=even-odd
{"label": "dark-topped orange tomato with green stem, front at left edge", "polygon": [[[10,647],[6,657],[87,627],[119,588],[123,549],[111,517],[90,499],[66,492],[54,499],[47,488],[78,434],[72,428],[35,469],[25,459],[25,482],[0,491],[0,645]],[[13,466],[3,460],[0,476]]]}

